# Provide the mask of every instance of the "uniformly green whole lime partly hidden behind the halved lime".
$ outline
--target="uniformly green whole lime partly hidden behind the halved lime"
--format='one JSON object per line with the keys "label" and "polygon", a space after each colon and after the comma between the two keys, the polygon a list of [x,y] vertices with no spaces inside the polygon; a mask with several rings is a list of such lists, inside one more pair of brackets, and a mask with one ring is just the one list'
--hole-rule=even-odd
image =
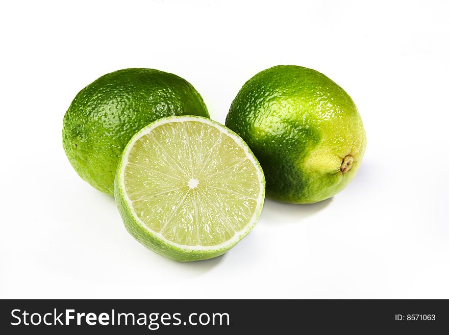
{"label": "uniformly green whole lime partly hidden behind the halved lime", "polygon": [[209,118],[201,95],[179,76],[155,69],[118,70],[74,98],[64,116],[63,147],[81,178],[113,195],[124,146],[143,126],[170,115]]}

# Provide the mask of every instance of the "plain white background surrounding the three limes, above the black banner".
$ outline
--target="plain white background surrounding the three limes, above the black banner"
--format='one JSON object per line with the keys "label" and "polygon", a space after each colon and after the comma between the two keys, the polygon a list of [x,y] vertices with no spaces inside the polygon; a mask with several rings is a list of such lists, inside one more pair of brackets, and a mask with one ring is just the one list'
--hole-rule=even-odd
{"label": "plain white background surrounding the three limes, above the black banner", "polygon": [[[2,2],[0,298],[449,298],[448,4]],[[224,256],[146,250],[65,157],[64,113],[105,73],[176,73],[224,123],[243,83],[278,64],[353,97],[365,159],[333,199],[267,199]]]}

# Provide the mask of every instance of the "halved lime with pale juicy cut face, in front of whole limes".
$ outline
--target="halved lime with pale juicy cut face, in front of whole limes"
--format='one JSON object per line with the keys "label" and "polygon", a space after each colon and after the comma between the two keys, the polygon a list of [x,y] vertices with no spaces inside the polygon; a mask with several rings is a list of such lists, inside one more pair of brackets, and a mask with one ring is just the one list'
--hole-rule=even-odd
{"label": "halved lime with pale juicy cut face, in front of whole limes", "polygon": [[210,259],[256,224],[262,169],[245,142],[204,117],[172,116],[142,128],[123,150],[115,201],[129,233],[177,261]]}

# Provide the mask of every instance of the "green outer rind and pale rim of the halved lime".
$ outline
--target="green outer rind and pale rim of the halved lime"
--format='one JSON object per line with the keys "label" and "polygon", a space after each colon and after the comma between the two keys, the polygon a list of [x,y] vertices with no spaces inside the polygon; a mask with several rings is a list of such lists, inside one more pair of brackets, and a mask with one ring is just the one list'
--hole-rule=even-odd
{"label": "green outer rind and pale rim of the halved lime", "polygon": [[[179,118],[180,116],[173,116],[173,119]],[[199,121],[203,117],[199,116],[192,116],[193,118],[198,118]],[[222,126],[216,121],[210,120],[212,123],[216,123],[217,125]],[[149,126],[149,124],[148,124]],[[234,133],[233,131],[229,130],[230,133],[238,136],[238,134]],[[121,185],[121,171],[123,169],[124,162],[124,155],[127,152],[128,147],[131,145],[131,143],[134,142],[134,138],[139,136],[139,134],[135,134],[131,140],[129,141],[128,145],[124,148],[122,155],[120,157],[117,171],[115,174],[115,180],[114,180],[114,197],[115,197],[115,203],[117,204],[118,212],[120,213],[120,216],[123,220],[123,224],[125,228],[128,230],[128,233],[134,237],[136,241],[138,241],[140,244],[142,244],[144,247],[146,247],[149,250],[152,250],[161,256],[167,257],[168,259],[171,259],[173,261],[178,262],[194,262],[194,261],[205,261],[210,260],[214,257],[218,257],[229,250],[231,250],[238,242],[240,242],[246,235],[250,233],[250,231],[254,228],[257,221],[259,220],[260,214],[262,212],[263,203],[265,199],[265,177],[262,171],[262,167],[260,166],[260,163],[257,161],[257,158],[254,156],[254,153],[251,152],[251,150],[248,150],[248,152],[253,156],[254,161],[256,162],[256,168],[260,169],[261,176],[262,176],[262,193],[261,193],[261,203],[259,206],[259,209],[254,214],[254,222],[252,225],[247,229],[246,233],[238,240],[236,240],[231,245],[228,245],[224,248],[219,248],[215,250],[186,250],[181,249],[176,246],[168,244],[166,241],[160,239],[157,237],[154,233],[149,231],[148,229],[144,228],[142,224],[134,217],[132,214],[132,210],[130,208],[130,205],[125,200],[126,195],[124,194],[124,190],[122,189]]]}

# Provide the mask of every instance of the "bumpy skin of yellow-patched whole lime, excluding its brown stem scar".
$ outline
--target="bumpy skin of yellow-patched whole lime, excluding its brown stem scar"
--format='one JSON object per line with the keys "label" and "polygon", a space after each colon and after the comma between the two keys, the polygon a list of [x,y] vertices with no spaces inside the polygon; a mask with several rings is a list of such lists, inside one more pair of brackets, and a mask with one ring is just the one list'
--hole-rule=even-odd
{"label": "bumpy skin of yellow-patched whole lime, excluding its brown stem scar", "polygon": [[[351,97],[315,70],[279,65],[248,80],[226,125],[258,158],[268,197],[314,203],[340,192],[362,162],[366,135]],[[340,167],[352,156],[350,170]]]}

